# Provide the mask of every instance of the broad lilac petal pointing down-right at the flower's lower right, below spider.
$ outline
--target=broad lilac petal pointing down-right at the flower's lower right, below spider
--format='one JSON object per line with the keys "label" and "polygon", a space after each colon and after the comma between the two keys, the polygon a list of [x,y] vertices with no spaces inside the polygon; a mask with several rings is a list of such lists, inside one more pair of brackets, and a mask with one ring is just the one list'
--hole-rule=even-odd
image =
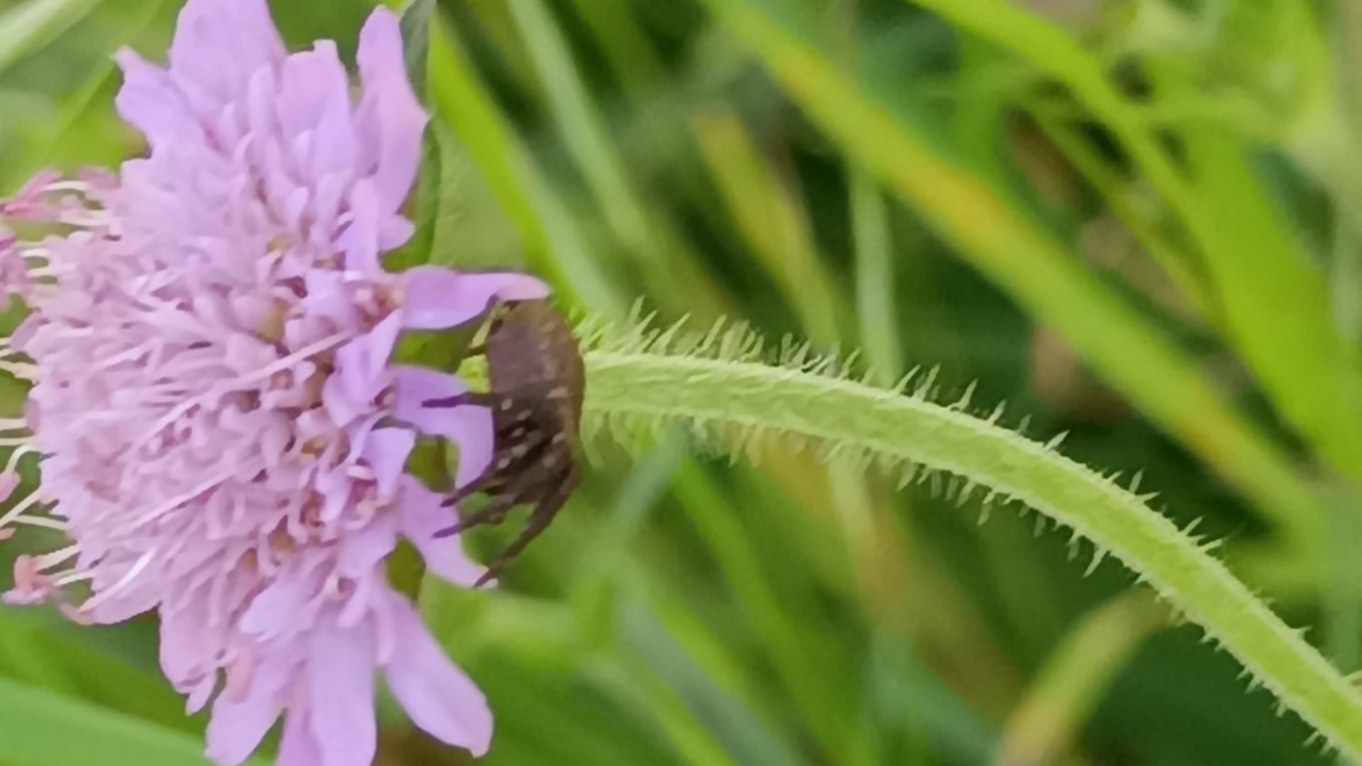
{"label": "broad lilac petal pointing down-right at the flower's lower right, below spider", "polygon": [[391,609],[400,642],[387,667],[392,695],[430,736],[484,755],[492,744],[492,710],[482,691],[449,662],[410,604],[395,596]]}

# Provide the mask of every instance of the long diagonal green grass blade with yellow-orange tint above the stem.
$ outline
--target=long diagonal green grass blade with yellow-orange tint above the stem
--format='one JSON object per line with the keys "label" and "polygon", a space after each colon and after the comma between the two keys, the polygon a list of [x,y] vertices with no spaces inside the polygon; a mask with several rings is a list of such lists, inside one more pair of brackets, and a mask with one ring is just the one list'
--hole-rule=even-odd
{"label": "long diagonal green grass blade with yellow-orange tint above the stem", "polygon": [[[994,3],[989,3],[993,5]],[[1323,538],[1323,510],[1294,459],[1267,439],[1197,364],[1103,284],[1005,192],[928,140],[895,93],[839,70],[809,42],[816,16],[790,1],[707,0],[853,159],[923,215],[1038,322],[1054,327],[1115,388],[1256,500],[1294,545]],[[1301,560],[1309,577],[1318,562]]]}

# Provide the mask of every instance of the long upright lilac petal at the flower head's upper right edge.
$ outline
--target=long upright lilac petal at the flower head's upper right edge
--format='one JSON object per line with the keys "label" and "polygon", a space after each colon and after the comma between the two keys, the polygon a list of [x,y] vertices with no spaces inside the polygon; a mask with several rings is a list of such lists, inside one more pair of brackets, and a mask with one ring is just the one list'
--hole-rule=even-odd
{"label": "long upright lilac petal at the flower head's upper right edge", "polygon": [[379,151],[373,174],[379,209],[391,214],[402,206],[417,177],[426,113],[411,93],[402,31],[387,8],[375,10],[365,22],[357,60],[364,78],[358,119],[368,127],[366,140]]}

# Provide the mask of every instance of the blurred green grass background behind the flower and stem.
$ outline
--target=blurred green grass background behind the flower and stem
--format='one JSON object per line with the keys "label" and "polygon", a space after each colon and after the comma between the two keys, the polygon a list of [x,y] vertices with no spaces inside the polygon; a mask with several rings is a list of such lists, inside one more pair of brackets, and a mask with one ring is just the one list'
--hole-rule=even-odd
{"label": "blurred green grass background behind the flower and stem", "polygon": [[[162,60],[180,5],[0,0],[0,189],[142,150],[109,56]],[[290,44],[350,55],[372,3],[272,5]],[[522,264],[577,312],[741,318],[861,349],[885,383],[938,365],[941,401],[977,383],[983,413],[1143,470],[1362,667],[1358,4],[441,0],[407,20],[436,121],[395,266]],[[498,592],[421,587],[496,711],[486,763],[1335,762],[1118,564],[892,478],[795,450],[730,465],[680,432],[594,450]],[[470,762],[380,714],[380,763]],[[0,612],[0,763],[199,763],[203,724],[150,620]]]}

